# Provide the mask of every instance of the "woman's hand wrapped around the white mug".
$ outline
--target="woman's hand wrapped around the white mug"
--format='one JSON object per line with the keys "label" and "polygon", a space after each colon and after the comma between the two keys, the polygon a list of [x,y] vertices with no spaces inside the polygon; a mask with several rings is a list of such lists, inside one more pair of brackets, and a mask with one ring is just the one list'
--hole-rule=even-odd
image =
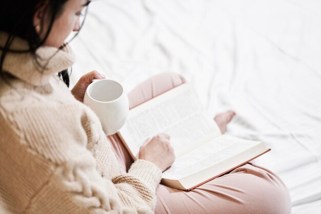
{"label": "woman's hand wrapped around the white mug", "polygon": [[84,101],[85,92],[88,88],[88,85],[93,79],[105,79],[106,77],[103,74],[99,74],[97,71],[91,71],[83,75],[75,86],[71,90],[71,94],[79,101]]}

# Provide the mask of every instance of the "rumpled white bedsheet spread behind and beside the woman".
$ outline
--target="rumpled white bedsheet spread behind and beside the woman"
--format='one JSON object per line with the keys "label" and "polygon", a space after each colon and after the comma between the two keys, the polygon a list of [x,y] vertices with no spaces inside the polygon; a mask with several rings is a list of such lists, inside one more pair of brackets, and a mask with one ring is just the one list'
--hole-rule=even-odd
{"label": "rumpled white bedsheet spread behind and beside the woman", "polygon": [[91,70],[129,91],[162,72],[191,82],[231,135],[264,141],[255,162],[286,183],[293,213],[321,213],[321,1],[95,0],[72,82]]}

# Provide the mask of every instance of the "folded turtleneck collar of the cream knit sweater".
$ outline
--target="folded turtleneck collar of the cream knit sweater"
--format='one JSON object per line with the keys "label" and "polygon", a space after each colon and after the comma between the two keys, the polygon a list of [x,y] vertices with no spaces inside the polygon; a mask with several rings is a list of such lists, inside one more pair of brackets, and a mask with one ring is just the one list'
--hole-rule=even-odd
{"label": "folded turtleneck collar of the cream knit sweater", "polygon": [[[5,46],[7,38],[7,33],[0,32],[0,47]],[[10,49],[28,50],[29,45],[26,40],[15,37]],[[1,54],[2,50],[0,50]],[[75,58],[69,46],[63,49],[39,47],[36,50],[36,56],[34,57],[31,53],[8,52],[3,71],[32,85],[41,86],[48,84],[53,74],[72,66]]]}

